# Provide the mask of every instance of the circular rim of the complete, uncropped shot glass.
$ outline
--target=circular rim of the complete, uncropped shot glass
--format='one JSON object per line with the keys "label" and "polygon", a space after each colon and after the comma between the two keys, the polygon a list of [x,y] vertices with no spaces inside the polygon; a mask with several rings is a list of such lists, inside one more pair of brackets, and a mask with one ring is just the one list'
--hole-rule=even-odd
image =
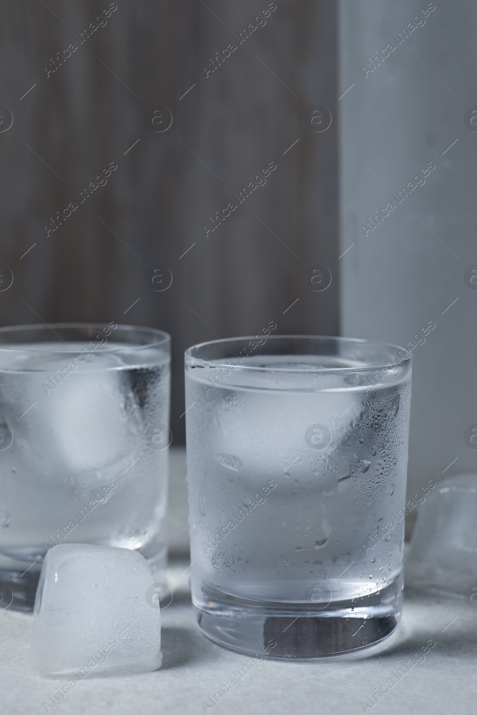
{"label": "circular rim of the complete, uncropped shot glass", "polygon": [[257,335],[239,335],[237,337],[224,337],[220,340],[206,340],[205,342],[198,342],[196,345],[191,345],[190,347],[187,347],[187,350],[185,350],[185,360],[190,361],[191,359],[193,359],[197,360],[198,363],[204,363],[211,368],[226,368],[227,370],[260,370],[260,372],[270,373],[320,373],[320,375],[344,373],[345,375],[350,375],[353,373],[363,373],[363,371],[370,370],[392,370],[393,368],[397,368],[398,365],[405,365],[405,363],[410,364],[413,357],[413,353],[411,352],[411,350],[409,350],[407,347],[400,347],[400,345],[395,345],[395,343],[393,342],[385,342],[383,340],[368,340],[367,338],[363,337],[344,337],[340,335],[262,335],[261,337],[265,337],[266,340],[334,340],[336,342],[354,342],[365,345],[378,345],[380,347],[387,347],[390,349],[394,348],[398,352],[403,351],[405,353],[405,357],[400,358],[399,360],[394,360],[389,363],[363,363],[363,365],[355,365],[351,368],[310,368],[310,366],[307,366],[306,368],[277,368],[275,366],[267,367],[266,365],[236,365],[233,363],[221,362],[220,359],[205,360],[204,358],[197,358],[195,355],[192,355],[192,350],[195,350],[200,347],[205,347],[206,345],[220,345],[222,343],[233,342],[235,340],[255,341],[257,337]]}

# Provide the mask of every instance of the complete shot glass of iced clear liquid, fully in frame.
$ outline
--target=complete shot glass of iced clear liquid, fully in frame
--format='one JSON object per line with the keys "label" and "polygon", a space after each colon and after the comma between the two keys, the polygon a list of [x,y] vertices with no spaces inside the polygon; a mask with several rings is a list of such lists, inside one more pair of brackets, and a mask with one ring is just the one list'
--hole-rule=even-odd
{"label": "complete shot glass of iced clear liquid, fully in frame", "polygon": [[394,631],[410,377],[409,350],[369,340],[186,350],[192,601],[209,638],[313,659]]}

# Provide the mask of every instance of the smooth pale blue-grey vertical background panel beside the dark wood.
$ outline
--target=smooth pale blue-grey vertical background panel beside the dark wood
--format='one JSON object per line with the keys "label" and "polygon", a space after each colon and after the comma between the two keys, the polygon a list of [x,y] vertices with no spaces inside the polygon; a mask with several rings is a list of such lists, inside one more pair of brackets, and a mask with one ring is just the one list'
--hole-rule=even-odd
{"label": "smooth pale blue-grey vertical background panel beside the dark wood", "polygon": [[338,8],[341,330],[413,351],[411,499],[477,472],[477,5]]}

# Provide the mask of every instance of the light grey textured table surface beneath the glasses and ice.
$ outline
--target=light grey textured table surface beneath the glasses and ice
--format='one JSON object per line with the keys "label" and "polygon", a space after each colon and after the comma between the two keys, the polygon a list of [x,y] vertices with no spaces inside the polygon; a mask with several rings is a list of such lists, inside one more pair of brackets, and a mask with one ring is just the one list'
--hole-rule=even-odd
{"label": "light grey textured table surface beneath the glasses and ice", "polygon": [[[177,555],[187,548],[183,523],[187,506],[180,483],[185,467],[177,464],[184,458],[180,451],[172,454],[173,551]],[[162,611],[162,668],[123,678],[87,677],[49,713],[199,715],[205,713],[203,704],[208,701],[207,711],[214,715],[358,715],[365,711],[362,703],[383,687],[388,692],[378,704],[368,704],[368,713],[475,714],[477,610],[463,600],[408,594],[395,634],[360,658],[314,662],[265,659],[245,673],[243,666],[250,661],[247,656],[222,649],[200,633],[190,604],[188,564],[187,558],[175,558],[167,573],[174,597]],[[31,671],[31,624],[31,616],[25,613],[0,611],[2,715],[46,713],[43,703],[67,682],[41,680]],[[436,645],[423,656],[421,649],[429,641]],[[421,655],[416,658],[418,651]],[[242,677],[238,678],[240,669]],[[210,696],[230,679],[237,684],[212,707]],[[388,689],[390,680],[395,685]]]}

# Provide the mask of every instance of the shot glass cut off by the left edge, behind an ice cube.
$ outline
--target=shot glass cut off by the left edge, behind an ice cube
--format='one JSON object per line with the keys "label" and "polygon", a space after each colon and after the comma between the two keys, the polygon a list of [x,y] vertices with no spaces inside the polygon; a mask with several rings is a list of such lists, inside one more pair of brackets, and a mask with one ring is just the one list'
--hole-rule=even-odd
{"label": "shot glass cut off by the left edge, behind an ice cube", "polygon": [[170,337],[107,324],[0,329],[0,609],[33,608],[59,543],[166,566]]}

